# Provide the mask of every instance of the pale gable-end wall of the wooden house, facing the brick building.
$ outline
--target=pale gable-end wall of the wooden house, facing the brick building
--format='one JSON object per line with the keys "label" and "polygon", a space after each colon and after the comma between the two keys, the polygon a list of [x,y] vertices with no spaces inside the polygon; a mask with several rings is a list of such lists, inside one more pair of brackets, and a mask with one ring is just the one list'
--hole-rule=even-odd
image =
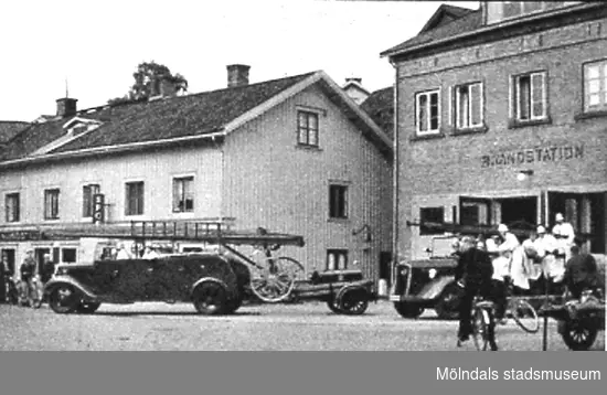
{"label": "pale gable-end wall of the wooden house, facing the brick building", "polygon": [[[319,110],[319,149],[297,146],[297,109]],[[307,271],[326,268],[328,248],[348,249],[377,278],[380,252],[391,250],[391,167],[361,131],[316,87],[310,87],[242,129],[225,143],[223,215],[242,228],[300,234],[303,248],[288,248]],[[330,181],[349,185],[349,218],[332,221]],[[369,225],[365,233],[353,231]]]}

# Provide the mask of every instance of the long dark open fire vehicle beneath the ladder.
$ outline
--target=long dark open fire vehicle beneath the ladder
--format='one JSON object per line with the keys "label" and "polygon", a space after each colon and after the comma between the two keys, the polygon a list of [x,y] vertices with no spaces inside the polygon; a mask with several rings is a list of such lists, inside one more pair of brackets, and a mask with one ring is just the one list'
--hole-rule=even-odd
{"label": "long dark open fire vehicle beneath the ladder", "polygon": [[202,314],[236,311],[249,285],[248,268],[222,254],[61,265],[45,285],[56,313],[95,312],[102,303],[192,302]]}

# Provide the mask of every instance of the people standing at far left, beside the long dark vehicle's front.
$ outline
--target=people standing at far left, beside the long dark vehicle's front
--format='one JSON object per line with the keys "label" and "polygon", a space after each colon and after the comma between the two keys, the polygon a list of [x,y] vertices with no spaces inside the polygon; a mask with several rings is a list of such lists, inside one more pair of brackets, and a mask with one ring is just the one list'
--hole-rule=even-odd
{"label": "people standing at far left, beside the long dark vehicle's front", "polygon": [[[2,259],[0,275],[2,278],[2,290],[0,291],[0,302],[7,302],[8,282],[13,276],[12,270],[8,266],[8,261]],[[39,267],[34,258],[34,250],[29,248],[25,252],[25,258],[19,268],[20,280],[18,284],[19,302],[21,305],[31,305],[32,295],[34,291],[42,289],[44,285],[55,274],[55,263],[51,259],[51,254],[44,254],[43,263]]]}

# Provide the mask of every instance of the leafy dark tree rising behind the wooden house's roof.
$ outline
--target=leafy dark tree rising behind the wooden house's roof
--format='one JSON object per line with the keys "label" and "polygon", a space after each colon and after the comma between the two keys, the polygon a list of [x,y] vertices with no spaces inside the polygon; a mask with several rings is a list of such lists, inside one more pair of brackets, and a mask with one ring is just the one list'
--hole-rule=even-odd
{"label": "leafy dark tree rising behind the wooden house's roof", "polygon": [[169,67],[155,61],[140,63],[137,66],[137,71],[132,73],[132,77],[135,78],[135,84],[132,84],[128,94],[124,97],[109,99],[108,104],[146,100],[150,97],[152,87],[155,87],[153,84],[156,84],[155,88],[158,92],[161,79],[172,83],[178,94],[188,92],[188,79],[179,73],[173,75]]}

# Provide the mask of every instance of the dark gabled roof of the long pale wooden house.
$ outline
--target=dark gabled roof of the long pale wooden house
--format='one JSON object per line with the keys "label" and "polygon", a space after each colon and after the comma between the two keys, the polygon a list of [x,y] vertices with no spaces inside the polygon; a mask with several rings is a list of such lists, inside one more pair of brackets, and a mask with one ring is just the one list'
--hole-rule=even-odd
{"label": "dark gabled roof of the long pale wooden house", "polygon": [[235,130],[317,83],[374,143],[390,151],[392,143],[382,129],[319,71],[195,95],[81,110],[75,116],[81,121],[100,125],[73,138],[66,138],[64,128],[73,117],[32,124],[7,145],[0,153],[4,162],[0,166],[209,139]]}

